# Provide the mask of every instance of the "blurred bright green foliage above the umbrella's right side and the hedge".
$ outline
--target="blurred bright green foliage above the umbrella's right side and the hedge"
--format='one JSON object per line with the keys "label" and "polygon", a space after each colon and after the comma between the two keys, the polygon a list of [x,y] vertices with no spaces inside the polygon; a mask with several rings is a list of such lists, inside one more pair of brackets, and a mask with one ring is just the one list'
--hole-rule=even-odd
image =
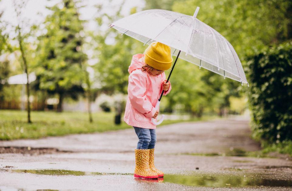
{"label": "blurred bright green foliage above the umbrella's right side and the hedge", "polygon": [[185,0],[176,1],[173,11],[193,15],[221,33],[239,58],[254,49],[292,38],[292,2],[287,0]]}

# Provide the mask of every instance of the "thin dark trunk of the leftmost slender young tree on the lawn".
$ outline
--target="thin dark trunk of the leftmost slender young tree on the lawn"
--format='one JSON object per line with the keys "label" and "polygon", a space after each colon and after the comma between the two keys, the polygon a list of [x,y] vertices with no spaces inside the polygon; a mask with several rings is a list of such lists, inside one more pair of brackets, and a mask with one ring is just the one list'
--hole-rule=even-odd
{"label": "thin dark trunk of the leftmost slender young tree on the lawn", "polygon": [[24,64],[24,70],[25,70],[25,73],[26,73],[26,79],[27,79],[27,83],[26,83],[26,95],[27,95],[27,122],[28,123],[31,123],[31,120],[30,120],[30,102],[29,102],[29,81],[28,81],[28,66],[27,66],[27,61],[26,61],[26,57],[25,57],[25,54],[24,54],[24,49],[23,49],[23,46],[22,46],[22,37],[21,37],[21,34],[20,34],[20,28],[18,26],[18,41],[19,41],[19,48],[20,48],[20,52],[21,52],[21,57],[22,57],[22,61],[23,61],[23,64]]}

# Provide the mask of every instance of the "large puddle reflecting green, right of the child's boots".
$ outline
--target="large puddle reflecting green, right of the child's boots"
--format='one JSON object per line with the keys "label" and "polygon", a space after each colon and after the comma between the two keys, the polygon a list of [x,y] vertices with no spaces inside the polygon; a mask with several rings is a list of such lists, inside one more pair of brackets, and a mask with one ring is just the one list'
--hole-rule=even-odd
{"label": "large puddle reflecting green, right of the child's boots", "polygon": [[292,186],[292,180],[273,180],[260,175],[166,175],[164,182],[186,186],[245,187],[245,186]]}

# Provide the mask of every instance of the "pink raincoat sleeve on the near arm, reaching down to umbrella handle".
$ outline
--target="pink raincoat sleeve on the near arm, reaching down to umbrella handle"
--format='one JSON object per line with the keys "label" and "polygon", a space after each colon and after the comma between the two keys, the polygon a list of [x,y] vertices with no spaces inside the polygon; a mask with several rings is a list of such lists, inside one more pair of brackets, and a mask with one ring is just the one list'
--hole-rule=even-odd
{"label": "pink raincoat sleeve on the near arm, reaching down to umbrella handle", "polygon": [[128,96],[132,106],[146,117],[154,116],[156,109],[151,102],[146,99],[146,78],[139,74],[132,72],[129,75]]}

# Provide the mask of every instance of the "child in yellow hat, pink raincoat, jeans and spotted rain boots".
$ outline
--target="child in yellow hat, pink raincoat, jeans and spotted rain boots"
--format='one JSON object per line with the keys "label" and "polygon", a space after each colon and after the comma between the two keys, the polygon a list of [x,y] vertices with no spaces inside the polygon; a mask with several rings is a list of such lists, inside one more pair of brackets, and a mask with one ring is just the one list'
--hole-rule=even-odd
{"label": "child in yellow hat, pink raincoat, jeans and spotted rain boots", "polygon": [[156,119],[158,110],[155,105],[162,90],[167,95],[171,90],[166,83],[164,70],[170,69],[172,57],[170,47],[160,42],[151,43],[144,54],[133,55],[129,66],[128,99],[124,121],[133,126],[139,138],[135,149],[136,168],[134,177],[158,178],[163,172],[154,166],[154,146],[156,126],[151,118]]}

